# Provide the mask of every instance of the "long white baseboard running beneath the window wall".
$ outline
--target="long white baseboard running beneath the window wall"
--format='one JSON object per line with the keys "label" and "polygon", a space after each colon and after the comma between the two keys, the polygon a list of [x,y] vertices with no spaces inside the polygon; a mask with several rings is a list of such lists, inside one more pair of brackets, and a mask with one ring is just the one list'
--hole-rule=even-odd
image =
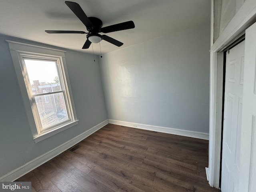
{"label": "long white baseboard running beneath the window wall", "polygon": [[5,174],[4,176],[0,177],[0,181],[1,182],[4,182],[4,181],[10,182],[10,181],[14,181],[14,180],[20,178],[24,174],[30,172],[31,170],[34,170],[38,166],[44,164],[48,160],[57,156],[58,154],[61,154],[65,150],[67,150],[70,147],[77,144],[78,142],[84,140],[86,137],[90,136],[91,134],[93,134],[94,132],[99,130],[100,128],[104,127],[106,124],[108,124],[108,119],[99,123],[98,125],[90,128],[89,130],[83,132],[82,134],[72,138],[71,140],[65,142],[64,144],[48,151],[47,153],[31,160],[30,162],[27,162],[23,166],[16,168],[15,170],[9,172],[8,174]]}

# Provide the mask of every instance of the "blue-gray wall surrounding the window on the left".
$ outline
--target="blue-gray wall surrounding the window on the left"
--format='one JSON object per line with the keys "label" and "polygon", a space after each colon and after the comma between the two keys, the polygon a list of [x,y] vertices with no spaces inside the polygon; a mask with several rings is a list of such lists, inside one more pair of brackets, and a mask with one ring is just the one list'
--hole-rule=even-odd
{"label": "blue-gray wall surrounding the window on the left", "polygon": [[0,35],[0,177],[108,118],[98,59],[94,62],[90,54],[66,50],[79,124],[35,144],[6,39],[45,46]]}

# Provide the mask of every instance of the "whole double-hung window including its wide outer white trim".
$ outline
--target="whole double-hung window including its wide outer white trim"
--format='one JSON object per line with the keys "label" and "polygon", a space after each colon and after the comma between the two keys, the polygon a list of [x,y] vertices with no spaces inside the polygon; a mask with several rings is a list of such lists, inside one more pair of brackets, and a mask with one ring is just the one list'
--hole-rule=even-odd
{"label": "whole double-hung window including its wide outer white trim", "polygon": [[64,52],[8,43],[35,142],[78,124]]}

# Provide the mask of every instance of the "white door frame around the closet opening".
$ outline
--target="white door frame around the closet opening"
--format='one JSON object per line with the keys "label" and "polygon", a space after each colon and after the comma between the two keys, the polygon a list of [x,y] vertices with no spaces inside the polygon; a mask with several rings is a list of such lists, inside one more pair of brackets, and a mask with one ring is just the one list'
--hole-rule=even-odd
{"label": "white door frame around the closet opening", "polygon": [[206,175],[210,186],[220,186],[222,124],[223,50],[256,21],[256,1],[246,0],[214,42],[214,0],[211,0],[209,162]]}

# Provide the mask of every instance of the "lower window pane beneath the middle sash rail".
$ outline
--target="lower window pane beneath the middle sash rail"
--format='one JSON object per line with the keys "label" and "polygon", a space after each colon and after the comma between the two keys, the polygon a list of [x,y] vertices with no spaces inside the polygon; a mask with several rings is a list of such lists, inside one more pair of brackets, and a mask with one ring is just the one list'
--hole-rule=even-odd
{"label": "lower window pane beneath the middle sash rail", "polygon": [[35,100],[43,129],[68,119],[63,93],[35,96]]}

